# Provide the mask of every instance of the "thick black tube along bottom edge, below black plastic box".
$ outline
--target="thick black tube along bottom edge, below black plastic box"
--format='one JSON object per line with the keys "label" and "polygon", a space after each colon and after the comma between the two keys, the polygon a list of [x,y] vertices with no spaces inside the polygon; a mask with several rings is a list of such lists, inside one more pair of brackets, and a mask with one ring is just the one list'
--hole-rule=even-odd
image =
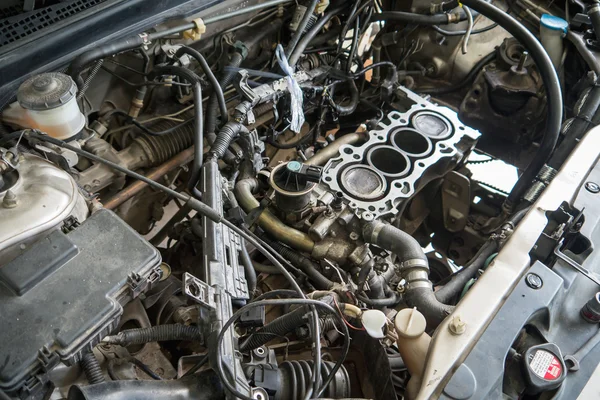
{"label": "thick black tube along bottom edge, below black plastic box", "polygon": [[223,385],[214,372],[204,372],[181,379],[110,381],[96,385],[73,385],[68,400],[221,400]]}

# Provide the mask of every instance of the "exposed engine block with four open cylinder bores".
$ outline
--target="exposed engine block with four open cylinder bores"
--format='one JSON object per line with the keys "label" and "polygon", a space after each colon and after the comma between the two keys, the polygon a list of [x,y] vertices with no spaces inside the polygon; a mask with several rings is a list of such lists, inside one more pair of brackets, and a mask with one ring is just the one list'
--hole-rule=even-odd
{"label": "exposed engine block with four open cylinder bores", "polygon": [[344,145],[323,171],[323,183],[341,192],[359,217],[391,217],[427,183],[456,168],[480,133],[456,113],[402,89],[413,103],[393,111],[360,146]]}

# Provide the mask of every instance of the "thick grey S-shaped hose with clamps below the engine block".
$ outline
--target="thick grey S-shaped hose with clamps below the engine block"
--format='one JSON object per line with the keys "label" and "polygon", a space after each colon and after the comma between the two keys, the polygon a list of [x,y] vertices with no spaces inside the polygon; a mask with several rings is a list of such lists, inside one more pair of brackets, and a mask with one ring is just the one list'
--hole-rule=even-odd
{"label": "thick grey S-shaped hose with clamps below the engine block", "polygon": [[363,227],[363,238],[391,251],[398,257],[402,276],[407,285],[404,300],[409,307],[417,307],[430,329],[437,327],[453,310],[453,306],[439,302],[429,281],[429,262],[421,245],[408,233],[381,221]]}

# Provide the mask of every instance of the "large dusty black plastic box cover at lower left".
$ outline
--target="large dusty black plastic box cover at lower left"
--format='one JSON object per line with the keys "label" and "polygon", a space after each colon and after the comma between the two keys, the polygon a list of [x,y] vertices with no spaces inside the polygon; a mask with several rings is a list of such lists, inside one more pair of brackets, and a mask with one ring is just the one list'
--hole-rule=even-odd
{"label": "large dusty black plastic box cover at lower left", "polygon": [[0,389],[36,391],[59,360],[113,331],[123,305],[161,277],[160,254],[113,212],[54,231],[0,268]]}

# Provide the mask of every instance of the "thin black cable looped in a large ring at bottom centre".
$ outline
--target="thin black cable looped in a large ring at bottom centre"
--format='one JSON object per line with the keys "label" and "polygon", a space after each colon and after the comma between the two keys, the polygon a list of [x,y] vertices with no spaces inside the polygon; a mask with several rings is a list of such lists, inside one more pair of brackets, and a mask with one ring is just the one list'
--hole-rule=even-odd
{"label": "thin black cable looped in a large ring at bottom centre", "polygon": [[[344,319],[342,318],[342,316],[340,314],[338,314],[336,312],[336,310],[333,307],[331,307],[329,304],[323,303],[318,300],[310,300],[310,299],[261,300],[261,301],[249,303],[249,304],[245,305],[244,307],[240,308],[239,310],[237,310],[233,314],[233,316],[231,318],[229,318],[229,320],[223,325],[223,329],[217,336],[217,341],[216,341],[217,362],[215,365],[216,372],[217,372],[217,375],[219,376],[219,378],[221,379],[223,385],[225,386],[225,388],[232,395],[239,397],[240,399],[243,399],[243,400],[254,400],[252,397],[248,397],[245,394],[238,391],[235,388],[235,386],[232,385],[231,382],[229,382],[229,377],[225,373],[225,370],[223,368],[223,362],[221,359],[221,351],[220,351],[223,339],[225,337],[225,332],[227,332],[227,330],[233,325],[233,323],[235,323],[235,321],[237,321],[250,308],[256,308],[256,307],[260,307],[260,306],[269,306],[269,305],[297,305],[297,304],[323,308],[326,312],[333,314],[335,316],[335,318],[340,322],[340,327],[343,330],[342,334],[344,335],[345,340],[344,340],[344,346],[342,348],[342,354],[336,361],[336,364],[331,369],[331,372],[329,373],[329,375],[323,380],[323,384],[319,387],[319,389],[317,391],[315,391],[313,393],[314,394],[313,398],[319,398],[321,396],[321,394],[325,391],[325,389],[327,389],[327,387],[329,386],[329,384],[335,377],[335,374],[337,373],[337,371],[342,367],[342,364],[344,363],[346,357],[348,356],[348,352],[350,350],[350,331],[348,330],[348,327],[344,323]],[[317,363],[320,364],[321,360],[319,359],[317,361]],[[320,376],[315,376],[315,375],[313,375],[313,377],[312,377],[312,379],[316,380],[317,382],[319,381],[319,378],[320,378]]]}

